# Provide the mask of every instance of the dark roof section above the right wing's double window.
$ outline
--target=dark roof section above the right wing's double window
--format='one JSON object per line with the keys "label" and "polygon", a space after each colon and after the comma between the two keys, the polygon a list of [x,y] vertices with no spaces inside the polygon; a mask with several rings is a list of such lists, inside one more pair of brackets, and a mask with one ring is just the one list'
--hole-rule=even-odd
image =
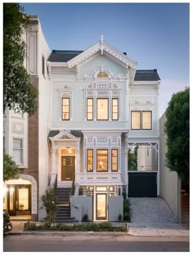
{"label": "dark roof section above the right wing's double window", "polygon": [[136,70],[134,81],[158,81],[157,70]]}

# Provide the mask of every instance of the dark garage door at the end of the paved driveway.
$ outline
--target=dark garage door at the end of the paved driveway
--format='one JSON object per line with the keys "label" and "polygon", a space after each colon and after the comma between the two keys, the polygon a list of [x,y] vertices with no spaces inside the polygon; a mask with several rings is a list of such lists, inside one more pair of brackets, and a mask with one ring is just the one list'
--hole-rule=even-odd
{"label": "dark garage door at the end of the paved driveway", "polygon": [[128,197],[157,197],[157,173],[128,172]]}

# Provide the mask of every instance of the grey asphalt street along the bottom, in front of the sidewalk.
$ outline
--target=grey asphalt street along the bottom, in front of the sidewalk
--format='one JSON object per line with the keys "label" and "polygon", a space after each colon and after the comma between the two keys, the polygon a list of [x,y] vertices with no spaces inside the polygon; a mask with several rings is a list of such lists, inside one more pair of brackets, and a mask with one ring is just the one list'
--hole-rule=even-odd
{"label": "grey asphalt street along the bottom, in front of the sidewalk", "polygon": [[189,242],[132,237],[4,236],[4,252],[188,252]]}

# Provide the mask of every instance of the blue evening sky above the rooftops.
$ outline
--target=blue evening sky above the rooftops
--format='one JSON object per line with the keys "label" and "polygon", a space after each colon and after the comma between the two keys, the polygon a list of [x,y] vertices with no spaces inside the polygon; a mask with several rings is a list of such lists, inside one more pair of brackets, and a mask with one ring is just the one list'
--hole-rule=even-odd
{"label": "blue evening sky above the rooftops", "polygon": [[138,62],[157,69],[160,115],[174,92],[189,81],[189,3],[23,3],[38,15],[51,50],[86,50],[104,40]]}

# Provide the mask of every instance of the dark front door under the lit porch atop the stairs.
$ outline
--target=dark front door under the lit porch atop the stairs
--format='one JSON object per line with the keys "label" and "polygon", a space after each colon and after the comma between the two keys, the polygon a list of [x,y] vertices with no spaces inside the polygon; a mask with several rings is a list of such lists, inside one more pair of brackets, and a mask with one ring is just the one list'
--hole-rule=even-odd
{"label": "dark front door under the lit porch atop the stairs", "polygon": [[75,155],[61,156],[61,181],[72,181],[75,173]]}

